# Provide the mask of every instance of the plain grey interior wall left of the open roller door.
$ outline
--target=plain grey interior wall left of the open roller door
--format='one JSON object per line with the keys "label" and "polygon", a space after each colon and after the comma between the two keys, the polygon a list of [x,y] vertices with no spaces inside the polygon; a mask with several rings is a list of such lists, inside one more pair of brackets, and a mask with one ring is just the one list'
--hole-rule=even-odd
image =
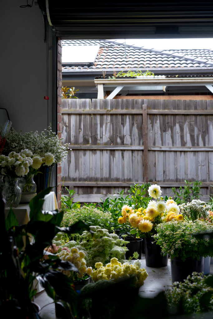
{"label": "plain grey interior wall left of the open roller door", "polygon": [[[32,1],[28,1],[32,3]],[[38,5],[20,8],[26,0],[0,2],[0,107],[9,112],[15,130],[42,131],[52,122],[52,31],[44,43],[42,11]],[[48,49],[49,101],[46,91]]]}

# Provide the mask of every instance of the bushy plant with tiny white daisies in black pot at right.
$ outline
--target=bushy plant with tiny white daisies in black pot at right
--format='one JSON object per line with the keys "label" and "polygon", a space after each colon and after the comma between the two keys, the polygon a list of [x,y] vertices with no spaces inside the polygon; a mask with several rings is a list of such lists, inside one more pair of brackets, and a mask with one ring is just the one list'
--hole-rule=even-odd
{"label": "bushy plant with tiny white daisies in black pot at right", "polygon": [[194,234],[202,234],[213,230],[211,223],[202,220],[172,220],[156,226],[157,234],[153,235],[162,249],[162,254],[170,254],[171,280],[183,281],[193,271],[203,271],[203,256],[208,256],[204,248],[212,245],[208,237],[197,238]]}

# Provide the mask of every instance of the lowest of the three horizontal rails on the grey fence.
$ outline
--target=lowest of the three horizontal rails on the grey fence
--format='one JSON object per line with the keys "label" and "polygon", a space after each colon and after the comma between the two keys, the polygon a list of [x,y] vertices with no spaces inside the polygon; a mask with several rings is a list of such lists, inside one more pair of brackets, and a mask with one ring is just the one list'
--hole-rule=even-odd
{"label": "lowest of the three horizontal rails on the grey fence", "polygon": [[[62,177],[63,179],[63,177]],[[191,180],[190,180],[191,181]],[[64,181],[64,186],[82,186],[82,187],[128,187],[130,185],[134,184],[139,184],[142,185],[144,184],[145,181],[143,182],[71,182],[71,181]],[[179,187],[179,186],[184,186],[186,185],[185,182],[150,182],[150,184],[157,184],[162,187]],[[212,184],[212,182],[203,182],[201,187],[209,187]]]}

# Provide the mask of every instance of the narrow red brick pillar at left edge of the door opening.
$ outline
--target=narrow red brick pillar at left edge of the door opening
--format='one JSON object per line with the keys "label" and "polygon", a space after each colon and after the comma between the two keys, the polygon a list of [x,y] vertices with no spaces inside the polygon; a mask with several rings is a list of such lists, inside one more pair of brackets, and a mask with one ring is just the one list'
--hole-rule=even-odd
{"label": "narrow red brick pillar at left edge of the door opening", "polygon": [[[62,42],[58,38],[58,56],[57,56],[57,133],[61,137],[61,87],[62,87]],[[57,165],[57,202],[58,209],[61,209],[61,163]]]}

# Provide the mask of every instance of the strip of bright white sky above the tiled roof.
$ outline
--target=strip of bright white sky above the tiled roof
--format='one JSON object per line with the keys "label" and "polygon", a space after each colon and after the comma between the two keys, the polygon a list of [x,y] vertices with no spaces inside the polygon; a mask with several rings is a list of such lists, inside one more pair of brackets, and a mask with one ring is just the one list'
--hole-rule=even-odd
{"label": "strip of bright white sky above the tiled roof", "polygon": [[[124,43],[124,39],[113,39]],[[155,49],[213,49],[213,38],[205,39],[126,39],[126,44]]]}

